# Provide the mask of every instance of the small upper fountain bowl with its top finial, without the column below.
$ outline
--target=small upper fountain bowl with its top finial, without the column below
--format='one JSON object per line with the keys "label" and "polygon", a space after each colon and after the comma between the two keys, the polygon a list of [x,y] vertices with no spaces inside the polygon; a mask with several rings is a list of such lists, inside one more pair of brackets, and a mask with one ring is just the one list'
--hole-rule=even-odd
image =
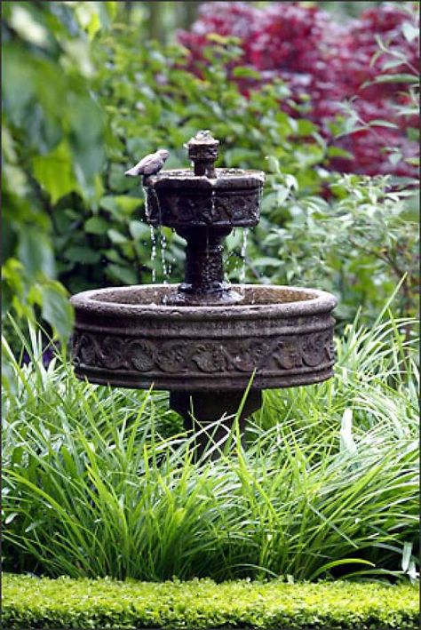
{"label": "small upper fountain bowl with its top finial, without the column below", "polygon": [[215,169],[218,144],[211,132],[198,132],[185,145],[193,171],[161,171],[147,178],[147,223],[177,231],[191,227],[217,232],[228,229],[221,235],[233,227],[257,225],[265,173]]}

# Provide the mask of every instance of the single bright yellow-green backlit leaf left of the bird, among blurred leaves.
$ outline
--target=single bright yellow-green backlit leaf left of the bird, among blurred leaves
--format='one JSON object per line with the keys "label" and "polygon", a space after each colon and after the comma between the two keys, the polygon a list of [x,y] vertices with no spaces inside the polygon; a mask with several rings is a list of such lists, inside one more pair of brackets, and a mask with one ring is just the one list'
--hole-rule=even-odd
{"label": "single bright yellow-green backlit leaf left of the bird, among blurred leaves", "polygon": [[32,167],[34,176],[51,196],[52,203],[57,203],[60,197],[78,189],[70,151],[64,140],[47,156],[34,157]]}

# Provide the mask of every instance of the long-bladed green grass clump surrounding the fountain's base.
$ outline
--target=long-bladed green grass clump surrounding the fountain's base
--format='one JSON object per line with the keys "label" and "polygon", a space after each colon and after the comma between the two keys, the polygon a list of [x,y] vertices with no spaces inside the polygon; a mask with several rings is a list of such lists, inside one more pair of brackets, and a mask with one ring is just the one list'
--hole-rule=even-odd
{"label": "long-bladed green grass clump surrounding the fountain's base", "polygon": [[337,377],[266,392],[244,450],[194,463],[165,395],[5,350],[5,567],[52,577],[416,578],[417,368],[401,327],[354,323]]}

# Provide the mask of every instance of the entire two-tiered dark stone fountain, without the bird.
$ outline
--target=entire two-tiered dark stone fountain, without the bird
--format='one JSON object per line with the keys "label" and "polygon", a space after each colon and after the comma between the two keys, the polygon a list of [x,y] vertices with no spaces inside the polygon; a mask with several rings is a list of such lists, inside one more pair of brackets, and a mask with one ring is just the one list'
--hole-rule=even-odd
{"label": "entire two-tiered dark stone fountain, without the bird", "polygon": [[223,240],[257,225],[265,175],[216,169],[218,140],[187,142],[193,170],[144,179],[146,221],[187,241],[185,280],[83,291],[75,307],[75,373],[92,383],[170,392],[170,405],[197,429],[242,409],[261,392],[333,375],[331,311],[336,299],[315,289],[224,282]]}

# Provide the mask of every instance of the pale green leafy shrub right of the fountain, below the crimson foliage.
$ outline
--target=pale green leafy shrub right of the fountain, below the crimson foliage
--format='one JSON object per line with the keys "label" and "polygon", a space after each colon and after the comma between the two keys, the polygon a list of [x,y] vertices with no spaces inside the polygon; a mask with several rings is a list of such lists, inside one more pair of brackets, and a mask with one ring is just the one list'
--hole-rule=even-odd
{"label": "pale green leafy shrub right of the fountain, below the crimson foliage", "polygon": [[274,192],[264,200],[269,229],[256,228],[249,278],[254,269],[262,283],[332,291],[338,296],[335,315],[346,323],[359,308],[364,322],[373,322],[402,280],[395,308],[417,315],[417,195],[393,188],[387,177],[346,175],[331,183],[335,197],[328,202],[300,195],[280,171],[272,177],[286,199],[282,208]]}

